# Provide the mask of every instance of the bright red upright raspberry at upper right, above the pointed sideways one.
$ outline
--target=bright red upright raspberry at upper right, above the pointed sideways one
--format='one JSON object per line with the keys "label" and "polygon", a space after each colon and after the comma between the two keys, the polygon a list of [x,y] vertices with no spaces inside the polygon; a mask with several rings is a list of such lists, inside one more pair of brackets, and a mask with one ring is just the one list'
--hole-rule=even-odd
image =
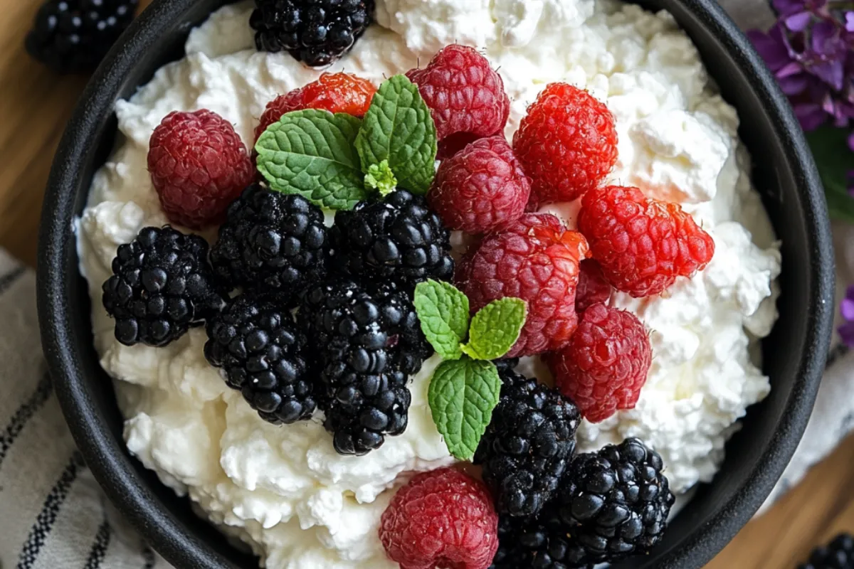
{"label": "bright red upright raspberry at upper right, above the pointed sideways one", "polygon": [[565,83],[547,85],[513,136],[531,199],[571,201],[594,189],[617,162],[617,130],[608,107]]}

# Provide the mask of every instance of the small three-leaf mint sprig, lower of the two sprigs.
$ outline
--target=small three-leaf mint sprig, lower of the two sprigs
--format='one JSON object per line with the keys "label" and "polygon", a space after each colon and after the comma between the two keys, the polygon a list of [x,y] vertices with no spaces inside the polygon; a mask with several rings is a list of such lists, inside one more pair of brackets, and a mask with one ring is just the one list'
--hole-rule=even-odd
{"label": "small three-leaf mint sprig, lower of the two sprigs", "polygon": [[469,460],[500,396],[498,369],[489,360],[516,343],[528,305],[522,299],[495,300],[477,311],[470,327],[469,299],[447,282],[418,283],[413,303],[424,336],[445,360],[427,393],[433,421],[447,450]]}

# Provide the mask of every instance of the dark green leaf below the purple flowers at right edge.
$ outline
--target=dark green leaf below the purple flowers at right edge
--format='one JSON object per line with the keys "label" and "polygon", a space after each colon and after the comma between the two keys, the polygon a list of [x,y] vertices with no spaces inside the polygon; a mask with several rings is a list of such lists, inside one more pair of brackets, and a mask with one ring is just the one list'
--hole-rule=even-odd
{"label": "dark green leaf below the purple flowers at right edge", "polygon": [[845,129],[830,125],[806,133],[822,177],[830,217],[854,224],[854,198],[848,195],[848,172],[851,171],[854,154],[848,148],[847,138]]}

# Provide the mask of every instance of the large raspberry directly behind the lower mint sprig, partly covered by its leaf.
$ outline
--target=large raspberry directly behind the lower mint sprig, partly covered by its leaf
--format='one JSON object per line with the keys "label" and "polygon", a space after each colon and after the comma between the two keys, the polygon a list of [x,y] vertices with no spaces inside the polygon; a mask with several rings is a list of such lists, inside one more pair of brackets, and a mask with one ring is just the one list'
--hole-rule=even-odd
{"label": "large raspberry directly behind the lower mint sprig, partly covered by its leaf", "polygon": [[506,357],[557,350],[576,330],[578,262],[587,241],[558,218],[526,213],[501,233],[488,235],[460,263],[459,287],[472,311],[512,296],[528,303],[528,319]]}

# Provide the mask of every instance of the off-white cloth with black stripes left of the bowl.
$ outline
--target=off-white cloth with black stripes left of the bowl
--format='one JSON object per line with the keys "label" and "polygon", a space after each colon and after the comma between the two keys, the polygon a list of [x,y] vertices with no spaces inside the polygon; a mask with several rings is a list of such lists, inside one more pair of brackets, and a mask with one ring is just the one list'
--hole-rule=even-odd
{"label": "off-white cloth with black stripes left of the bowl", "polygon": [[0,567],[168,569],[102,494],[42,359],[35,276],[0,250]]}

